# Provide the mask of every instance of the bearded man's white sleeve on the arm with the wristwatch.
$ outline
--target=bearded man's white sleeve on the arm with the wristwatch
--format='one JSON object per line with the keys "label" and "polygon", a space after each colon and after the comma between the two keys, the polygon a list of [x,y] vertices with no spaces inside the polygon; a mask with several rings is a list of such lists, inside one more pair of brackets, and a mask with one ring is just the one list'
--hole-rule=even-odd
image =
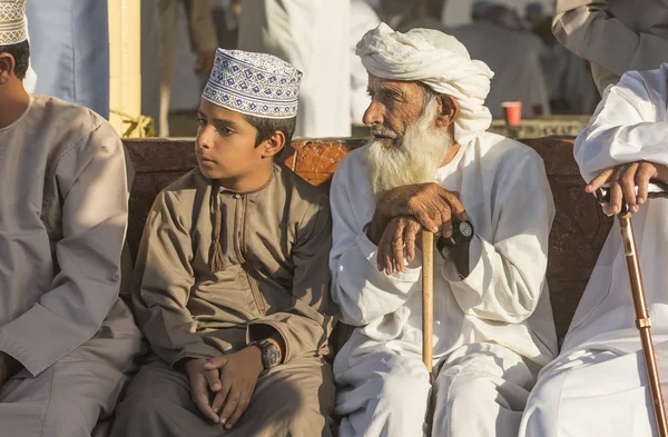
{"label": "bearded man's white sleeve on the arm with the wristwatch", "polygon": [[500,180],[493,201],[493,241],[471,240],[466,278],[453,262],[445,262],[443,276],[464,312],[518,324],[533,314],[546,289],[554,205],[542,161],[517,162]]}

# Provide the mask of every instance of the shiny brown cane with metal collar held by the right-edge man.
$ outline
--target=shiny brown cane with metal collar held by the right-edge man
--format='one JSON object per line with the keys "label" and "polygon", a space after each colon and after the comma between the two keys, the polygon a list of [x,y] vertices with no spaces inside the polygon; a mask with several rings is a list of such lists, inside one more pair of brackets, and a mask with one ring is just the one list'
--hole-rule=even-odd
{"label": "shiny brown cane with metal collar held by the right-edge man", "polygon": [[[654,186],[654,190],[652,190]],[[666,197],[667,188],[664,183],[651,180],[648,198]],[[652,192],[654,191],[654,192]],[[610,201],[609,192],[602,190],[602,203]],[[640,334],[642,344],[642,356],[645,358],[645,369],[647,371],[647,381],[649,384],[649,394],[654,409],[655,420],[659,437],[668,437],[668,425],[666,421],[666,408],[664,406],[664,394],[661,391],[661,380],[657,367],[657,357],[655,355],[654,342],[651,340],[651,320],[649,319],[649,309],[645,298],[645,286],[640,275],[640,262],[638,259],[638,248],[636,247],[636,236],[633,234],[633,224],[631,212],[626,203],[622,205],[621,212],[617,216],[619,220],[619,230],[621,232],[621,246],[627,261],[629,281],[631,285],[631,297],[636,309],[636,327]]]}

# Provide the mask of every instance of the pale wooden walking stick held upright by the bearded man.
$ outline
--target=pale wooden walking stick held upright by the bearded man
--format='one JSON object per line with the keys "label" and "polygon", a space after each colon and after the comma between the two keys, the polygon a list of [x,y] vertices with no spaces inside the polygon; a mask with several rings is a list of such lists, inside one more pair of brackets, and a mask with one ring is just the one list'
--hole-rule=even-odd
{"label": "pale wooden walking stick held upright by the bearded man", "polygon": [[422,362],[432,373],[434,330],[434,235],[422,231]]}

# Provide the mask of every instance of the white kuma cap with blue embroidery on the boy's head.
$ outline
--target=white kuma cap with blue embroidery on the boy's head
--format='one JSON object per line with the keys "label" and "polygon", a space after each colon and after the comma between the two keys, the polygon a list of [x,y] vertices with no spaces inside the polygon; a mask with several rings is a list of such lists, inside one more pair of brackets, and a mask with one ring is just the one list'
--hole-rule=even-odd
{"label": "white kuma cap with blue embroidery on the boy's head", "polygon": [[302,72],[272,54],[216,51],[202,97],[219,107],[262,118],[293,118]]}

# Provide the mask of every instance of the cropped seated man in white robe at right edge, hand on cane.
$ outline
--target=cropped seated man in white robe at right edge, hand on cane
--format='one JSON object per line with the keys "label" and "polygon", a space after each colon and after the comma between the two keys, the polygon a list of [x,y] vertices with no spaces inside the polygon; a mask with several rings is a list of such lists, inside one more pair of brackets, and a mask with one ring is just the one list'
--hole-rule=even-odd
{"label": "cropped seated man in white robe at right edge, hand on cane", "polygon": [[[593,192],[611,183],[633,213],[636,244],[664,394],[668,391],[668,201],[647,200],[647,181],[668,183],[668,64],[627,72],[609,88],[576,141]],[[635,187],[638,187],[636,197]],[[613,210],[612,208],[617,209]],[[521,437],[657,436],[619,225],[610,230],[560,356],[531,395]]]}

